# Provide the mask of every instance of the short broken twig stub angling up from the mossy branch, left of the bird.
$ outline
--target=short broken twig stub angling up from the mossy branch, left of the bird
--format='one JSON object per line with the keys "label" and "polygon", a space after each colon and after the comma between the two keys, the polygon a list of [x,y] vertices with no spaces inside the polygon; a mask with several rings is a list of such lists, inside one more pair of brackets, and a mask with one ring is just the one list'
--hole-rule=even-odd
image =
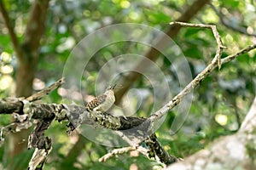
{"label": "short broken twig stub angling up from the mossy branch, left of the bird", "polygon": [[64,83],[64,77],[62,77],[60,80],[50,85],[48,88],[45,88],[44,90],[38,92],[37,94],[32,94],[31,96],[27,97],[26,100],[32,102],[38,99],[42,99],[45,95],[55,90],[55,88],[59,88],[63,83]]}

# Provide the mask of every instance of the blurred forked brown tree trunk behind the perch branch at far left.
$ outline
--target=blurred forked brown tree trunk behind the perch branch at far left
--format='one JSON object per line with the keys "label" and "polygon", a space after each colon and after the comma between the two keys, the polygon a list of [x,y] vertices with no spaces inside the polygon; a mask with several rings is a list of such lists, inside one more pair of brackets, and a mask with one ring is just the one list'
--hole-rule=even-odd
{"label": "blurred forked brown tree trunk behind the perch branch at far left", "polygon": [[[20,44],[15,35],[15,29],[11,24],[6,8],[3,2],[0,1],[3,19],[9,30],[9,36],[12,40],[18,60],[15,88],[16,97],[27,97],[32,94],[32,82],[38,65],[38,48],[40,46],[41,37],[44,34],[44,21],[48,7],[49,0],[35,0],[32,3],[26,32],[24,34],[24,42]],[[13,160],[13,156],[18,155],[22,150],[26,149],[30,131],[31,130],[21,130],[21,132],[12,133],[12,135],[9,136],[9,141],[6,144],[9,145],[7,152],[9,153],[10,160]],[[11,169],[19,168],[19,166],[15,167],[15,165],[13,165],[13,161],[10,161],[9,164]]]}

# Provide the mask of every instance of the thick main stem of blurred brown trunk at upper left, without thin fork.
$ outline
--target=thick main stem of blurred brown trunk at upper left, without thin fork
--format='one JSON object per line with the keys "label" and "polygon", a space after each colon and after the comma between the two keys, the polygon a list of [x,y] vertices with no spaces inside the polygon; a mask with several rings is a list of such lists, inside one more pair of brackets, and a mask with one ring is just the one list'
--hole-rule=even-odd
{"label": "thick main stem of blurred brown trunk at upper left, without thin fork", "polygon": [[30,8],[26,31],[23,35],[24,41],[20,45],[24,57],[19,59],[16,71],[15,94],[17,97],[28,97],[32,94],[32,82],[39,58],[38,48],[44,34],[48,6],[49,0],[35,0]]}

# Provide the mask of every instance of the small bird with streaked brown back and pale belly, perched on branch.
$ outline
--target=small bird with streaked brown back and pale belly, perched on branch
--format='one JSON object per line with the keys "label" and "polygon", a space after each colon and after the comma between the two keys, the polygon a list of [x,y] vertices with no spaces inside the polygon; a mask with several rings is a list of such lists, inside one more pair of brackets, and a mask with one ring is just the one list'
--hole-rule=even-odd
{"label": "small bird with streaked brown back and pale belly, perched on branch", "polygon": [[104,112],[108,111],[115,101],[113,88],[116,84],[110,86],[106,89],[104,94],[97,96],[95,99],[92,99],[86,106],[87,111],[97,111]]}

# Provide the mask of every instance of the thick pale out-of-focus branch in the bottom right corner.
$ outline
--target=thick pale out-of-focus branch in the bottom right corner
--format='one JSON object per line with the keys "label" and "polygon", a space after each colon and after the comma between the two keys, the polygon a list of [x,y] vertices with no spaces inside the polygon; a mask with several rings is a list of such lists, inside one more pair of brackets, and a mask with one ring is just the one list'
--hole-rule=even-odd
{"label": "thick pale out-of-focus branch in the bottom right corner", "polygon": [[255,116],[256,98],[237,133],[215,139],[206,149],[167,169],[255,169]]}

